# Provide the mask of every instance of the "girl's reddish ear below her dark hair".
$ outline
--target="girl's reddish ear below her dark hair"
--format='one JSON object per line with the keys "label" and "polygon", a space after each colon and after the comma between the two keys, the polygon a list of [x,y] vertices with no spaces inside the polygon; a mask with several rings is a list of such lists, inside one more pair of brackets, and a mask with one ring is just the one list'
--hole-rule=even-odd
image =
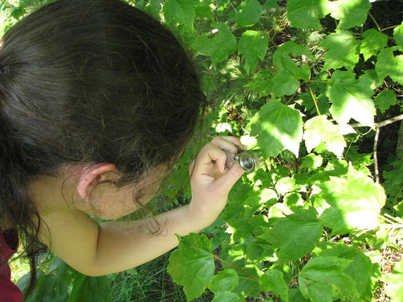
{"label": "girl's reddish ear below her dark hair", "polygon": [[110,163],[96,164],[90,169],[83,169],[77,184],[77,192],[80,197],[89,201],[89,193],[101,181],[107,180],[107,172],[116,172],[116,166]]}

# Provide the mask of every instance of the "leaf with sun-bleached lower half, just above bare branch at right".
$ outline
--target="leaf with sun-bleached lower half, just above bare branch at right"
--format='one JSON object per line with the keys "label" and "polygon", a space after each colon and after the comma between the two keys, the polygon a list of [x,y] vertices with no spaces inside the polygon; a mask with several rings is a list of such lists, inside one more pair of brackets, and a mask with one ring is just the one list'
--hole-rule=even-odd
{"label": "leaf with sun-bleached lower half, just above bare branch at right", "polygon": [[331,76],[333,85],[326,92],[332,102],[329,109],[339,124],[347,124],[351,118],[363,125],[374,127],[376,109],[371,98],[373,91],[368,78],[356,80],[349,71],[336,70]]}

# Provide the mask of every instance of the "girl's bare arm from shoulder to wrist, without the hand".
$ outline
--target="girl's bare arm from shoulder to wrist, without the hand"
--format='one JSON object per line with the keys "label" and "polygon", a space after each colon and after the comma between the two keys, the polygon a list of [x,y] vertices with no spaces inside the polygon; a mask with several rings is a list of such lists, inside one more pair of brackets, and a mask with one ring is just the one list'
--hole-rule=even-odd
{"label": "girl's bare arm from shoulder to wrist, without the hand", "polygon": [[98,225],[78,210],[48,214],[43,220],[51,230],[56,255],[85,275],[101,276],[157,258],[178,245],[175,233],[186,235],[205,227],[194,221],[188,205],[155,218],[161,224],[160,235],[150,233],[146,219]]}

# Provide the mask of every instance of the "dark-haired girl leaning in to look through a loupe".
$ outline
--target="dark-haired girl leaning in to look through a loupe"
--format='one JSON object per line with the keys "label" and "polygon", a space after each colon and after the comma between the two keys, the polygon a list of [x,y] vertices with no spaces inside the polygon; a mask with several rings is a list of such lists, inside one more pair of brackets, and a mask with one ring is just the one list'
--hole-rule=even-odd
{"label": "dark-haired girl leaning in to look through a loupe", "polygon": [[[159,22],[120,0],[59,0],[12,27],[0,46],[0,274],[2,301],[21,301],[7,259],[42,243],[90,276],[127,270],[210,225],[243,170],[225,174],[239,139],[219,136],[189,167],[190,204],[146,219],[192,137],[206,99],[194,67]],[[200,125],[201,125],[200,121]],[[218,170],[218,171],[217,171]],[[2,235],[0,233],[0,235]],[[6,241],[4,240],[6,239]],[[14,239],[14,245],[13,245]]]}

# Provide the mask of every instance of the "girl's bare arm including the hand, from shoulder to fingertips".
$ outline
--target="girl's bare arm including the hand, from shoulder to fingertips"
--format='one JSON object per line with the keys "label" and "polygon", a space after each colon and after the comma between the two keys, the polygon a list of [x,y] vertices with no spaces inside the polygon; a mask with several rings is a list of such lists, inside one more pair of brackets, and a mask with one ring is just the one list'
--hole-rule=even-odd
{"label": "girl's bare arm including the hand, from shoulder to fingertips", "polygon": [[[213,177],[217,168],[223,172],[226,160],[220,148],[236,153],[233,143],[240,143],[235,137],[225,138],[213,139],[193,162],[190,204],[155,217],[161,225],[161,234],[151,234],[145,219],[98,225],[80,210],[48,211],[41,217],[49,226],[51,249],[81,273],[99,276],[130,269],[164,254],[178,245],[175,234],[187,235],[204,229],[221,213],[230,189],[243,174],[234,165],[221,177]],[[41,232],[41,238],[46,243],[44,234]]]}

